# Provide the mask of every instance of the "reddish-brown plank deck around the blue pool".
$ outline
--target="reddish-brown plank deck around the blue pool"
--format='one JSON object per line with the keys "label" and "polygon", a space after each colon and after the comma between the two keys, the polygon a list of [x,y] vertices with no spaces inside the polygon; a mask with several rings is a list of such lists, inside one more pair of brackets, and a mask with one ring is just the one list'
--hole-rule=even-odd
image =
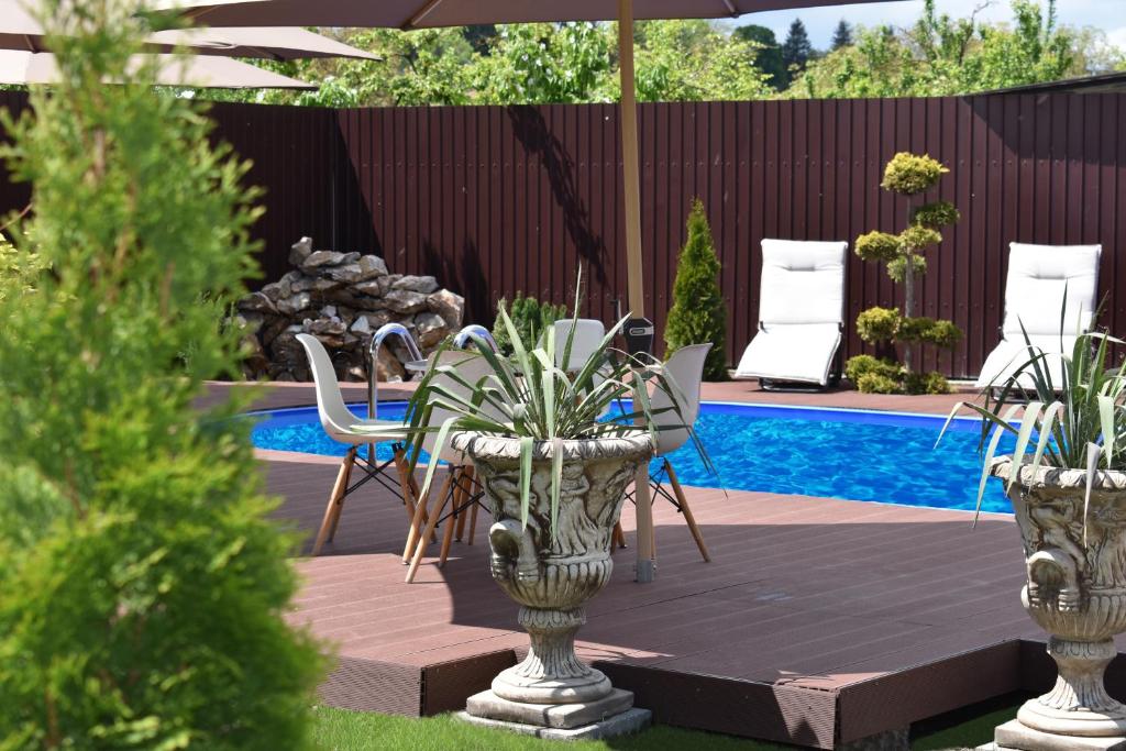
{"label": "reddish-brown plank deck around the blue pool", "polygon": [[[287,386],[262,404],[311,399],[306,386]],[[705,399],[919,412],[956,401],[772,395],[747,384],[709,386]],[[283,516],[315,530],[336,463],[261,457]],[[580,632],[584,656],[656,722],[834,748],[1051,679],[1019,604],[1011,518],[985,516],[971,530],[959,511],[705,489],[689,497],[713,563],[700,561],[674,509],[658,503],[656,582],[634,583],[632,551],[617,553]],[[401,504],[378,489],[350,499],[337,540],[297,564],[306,581],[292,617],[339,654],[324,701],[408,715],[458,709],[520,656],[517,607],[488,573],[488,524],[479,520],[474,545],[454,545],[445,569],[430,558],[408,585]],[[628,507],[623,524],[632,544]]]}

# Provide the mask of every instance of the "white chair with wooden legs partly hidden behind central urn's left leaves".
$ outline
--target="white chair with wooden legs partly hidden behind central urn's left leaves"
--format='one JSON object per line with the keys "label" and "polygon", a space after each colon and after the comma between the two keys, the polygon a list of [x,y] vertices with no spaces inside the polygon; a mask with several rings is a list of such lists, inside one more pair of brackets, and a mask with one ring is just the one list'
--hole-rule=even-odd
{"label": "white chair with wooden legs partly hidden behind central urn's left leaves", "polygon": [[[477,383],[492,373],[492,367],[485,358],[472,351],[446,350],[437,359],[431,355],[430,367],[432,368],[436,365],[453,366],[457,370],[457,375],[471,384]],[[432,383],[441,385],[447,391],[457,395],[466,395],[468,393],[465,386],[446,374],[435,376]],[[437,428],[452,417],[454,417],[454,413],[449,410],[436,408],[430,413],[429,424]],[[441,485],[441,490],[438,491],[436,506],[432,509],[428,509],[429,498],[422,498],[419,499],[415,507],[414,518],[411,520],[411,530],[406,538],[406,546],[403,548],[403,563],[410,563],[410,569],[406,571],[408,583],[414,581],[419,564],[435,534],[435,529],[437,529],[438,524],[443,520],[441,513],[447,503],[453,502],[453,509],[448,515],[448,524],[443,533],[441,552],[438,558],[439,566],[444,566],[449,556],[449,547],[454,539],[455,527],[457,539],[462,539],[466,511],[470,512],[470,545],[473,544],[473,536],[476,529],[480,493],[476,491],[476,485],[474,484],[473,464],[462,452],[453,448],[448,441],[440,452],[437,452],[436,456],[435,448],[437,448],[437,440],[438,436],[436,432],[428,432],[422,438],[422,449],[430,455],[431,462],[445,462],[448,465],[448,473]],[[419,535],[419,527],[426,515],[429,515],[429,520],[426,522],[426,528],[421,535]]]}

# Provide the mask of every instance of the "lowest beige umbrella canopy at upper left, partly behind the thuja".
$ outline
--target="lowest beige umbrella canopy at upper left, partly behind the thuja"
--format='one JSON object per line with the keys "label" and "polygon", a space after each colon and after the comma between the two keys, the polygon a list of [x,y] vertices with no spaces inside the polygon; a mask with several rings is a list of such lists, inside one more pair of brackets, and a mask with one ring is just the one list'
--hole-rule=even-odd
{"label": "lowest beige umbrella canopy at upper left, partly behind the thuja", "polygon": [[[158,82],[163,86],[185,86],[198,89],[315,89],[316,86],[298,81],[261,68],[226,57],[196,57],[158,55],[163,59]],[[134,55],[133,64],[140,68],[148,55]],[[59,66],[50,52],[0,50],[0,83],[24,86],[54,83]]]}

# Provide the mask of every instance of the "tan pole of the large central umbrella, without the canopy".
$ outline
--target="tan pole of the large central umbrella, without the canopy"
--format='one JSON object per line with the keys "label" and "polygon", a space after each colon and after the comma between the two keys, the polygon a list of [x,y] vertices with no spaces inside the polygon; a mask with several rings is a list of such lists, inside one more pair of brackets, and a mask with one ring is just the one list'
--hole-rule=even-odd
{"label": "tan pole of the large central umbrella, without the canopy", "polygon": [[[644,274],[641,257],[641,169],[637,145],[637,99],[633,64],[633,0],[618,0],[618,72],[622,79],[622,166],[626,211],[626,274],[631,318],[645,315]],[[656,575],[653,560],[653,503],[649,488],[649,463],[634,477],[637,508],[637,563],[634,579],[651,582]]]}

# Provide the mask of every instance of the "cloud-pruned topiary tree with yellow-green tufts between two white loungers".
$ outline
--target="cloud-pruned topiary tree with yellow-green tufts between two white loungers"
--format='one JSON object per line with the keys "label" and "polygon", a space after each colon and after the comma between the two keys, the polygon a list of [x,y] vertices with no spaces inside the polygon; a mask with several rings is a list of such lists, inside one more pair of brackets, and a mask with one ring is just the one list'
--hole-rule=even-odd
{"label": "cloud-pruned topiary tree with yellow-green tufts between two white loungers", "polygon": [[[960,215],[946,200],[919,203],[915,197],[935,188],[949,170],[928,155],[895,154],[884,170],[881,187],[909,199],[906,227],[899,234],[869,232],[857,238],[856,253],[866,261],[886,265],[887,275],[903,285],[903,310],[872,307],[857,318],[859,337],[874,345],[877,356],[854,357],[847,375],[860,391],[896,393],[945,393],[946,379],[938,373],[914,370],[915,350],[922,345],[950,349],[962,339],[962,331],[950,321],[915,315],[915,286],[927,272],[927,248],[942,241],[940,229],[955,224]],[[903,364],[895,359],[895,346],[903,351]]]}

